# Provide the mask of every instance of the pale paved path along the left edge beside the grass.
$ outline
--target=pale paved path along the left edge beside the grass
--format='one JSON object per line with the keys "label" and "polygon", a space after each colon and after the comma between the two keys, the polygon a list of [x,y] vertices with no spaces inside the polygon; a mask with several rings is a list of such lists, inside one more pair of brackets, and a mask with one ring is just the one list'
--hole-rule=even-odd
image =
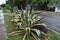
{"label": "pale paved path along the left edge beside the grass", "polygon": [[0,40],[7,40],[7,34],[4,25],[4,16],[2,10],[0,10]]}

